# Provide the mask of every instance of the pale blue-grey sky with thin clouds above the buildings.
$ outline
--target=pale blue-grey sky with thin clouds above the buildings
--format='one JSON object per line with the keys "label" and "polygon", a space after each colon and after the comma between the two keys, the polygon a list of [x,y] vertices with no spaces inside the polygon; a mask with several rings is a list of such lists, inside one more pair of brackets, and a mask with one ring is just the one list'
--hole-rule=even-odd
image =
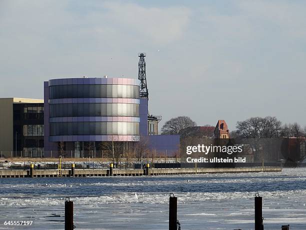
{"label": "pale blue-grey sky with thin clouds above the buildings", "polygon": [[138,77],[149,113],[306,125],[305,1],[3,1],[0,97],[43,98],[54,78]]}

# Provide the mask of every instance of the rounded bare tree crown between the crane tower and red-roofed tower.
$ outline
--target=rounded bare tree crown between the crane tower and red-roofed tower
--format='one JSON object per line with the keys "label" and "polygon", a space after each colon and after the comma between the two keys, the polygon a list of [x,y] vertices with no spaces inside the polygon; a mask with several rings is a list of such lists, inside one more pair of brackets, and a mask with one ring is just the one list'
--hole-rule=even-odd
{"label": "rounded bare tree crown between the crane tower and red-roofed tower", "polygon": [[196,126],[196,123],[189,117],[180,116],[171,118],[161,128],[161,134],[179,134],[181,129]]}

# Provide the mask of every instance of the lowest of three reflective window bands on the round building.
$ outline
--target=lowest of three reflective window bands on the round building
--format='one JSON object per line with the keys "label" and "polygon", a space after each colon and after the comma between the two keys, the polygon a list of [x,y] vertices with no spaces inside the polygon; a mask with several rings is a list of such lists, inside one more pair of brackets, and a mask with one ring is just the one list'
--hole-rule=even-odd
{"label": "lowest of three reflective window bands on the round building", "polygon": [[50,123],[50,136],[139,135],[138,122],[56,122]]}

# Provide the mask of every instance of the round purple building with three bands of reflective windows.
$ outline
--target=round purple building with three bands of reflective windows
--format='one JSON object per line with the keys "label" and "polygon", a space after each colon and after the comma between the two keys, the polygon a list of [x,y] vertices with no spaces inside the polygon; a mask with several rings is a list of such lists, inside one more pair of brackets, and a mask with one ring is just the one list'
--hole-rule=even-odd
{"label": "round purple building with three bands of reflective windows", "polygon": [[[139,141],[139,81],[72,78],[44,82],[45,151],[64,143],[81,156],[103,141]],[[48,154],[47,154],[48,155]]]}

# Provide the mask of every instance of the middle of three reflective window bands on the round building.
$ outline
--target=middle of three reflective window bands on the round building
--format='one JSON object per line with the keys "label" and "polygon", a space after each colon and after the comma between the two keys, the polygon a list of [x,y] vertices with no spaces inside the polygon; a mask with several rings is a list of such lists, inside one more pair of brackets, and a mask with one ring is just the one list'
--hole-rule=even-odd
{"label": "middle of three reflective window bands on the round building", "polygon": [[139,104],[68,103],[50,104],[50,117],[122,116],[139,117]]}

